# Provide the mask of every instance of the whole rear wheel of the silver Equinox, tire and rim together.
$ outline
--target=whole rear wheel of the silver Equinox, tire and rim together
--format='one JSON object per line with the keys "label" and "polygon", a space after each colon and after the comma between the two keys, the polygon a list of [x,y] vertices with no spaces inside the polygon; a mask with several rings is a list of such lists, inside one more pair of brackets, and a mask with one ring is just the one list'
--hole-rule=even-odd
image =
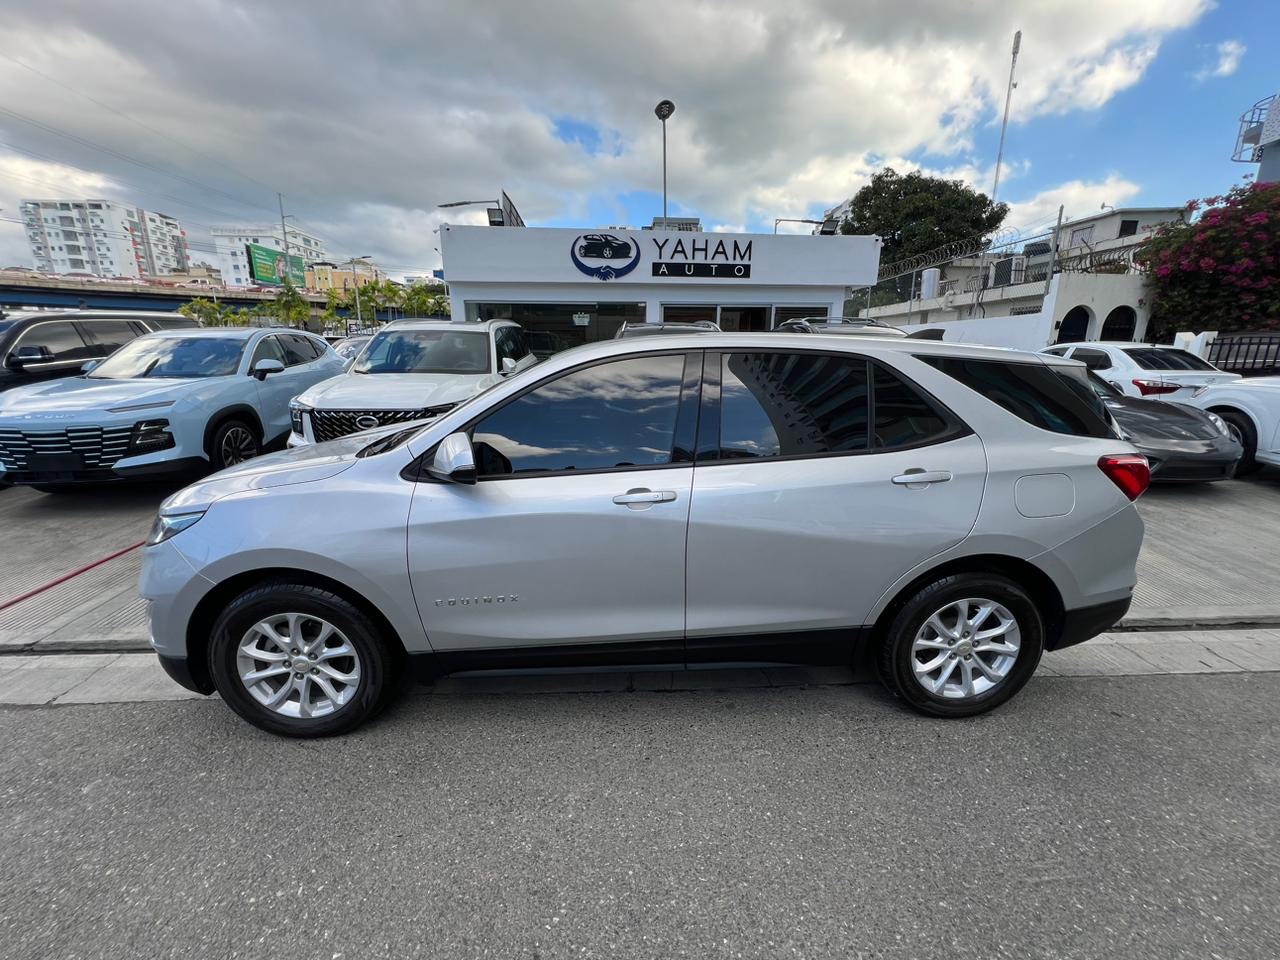
{"label": "whole rear wheel of the silver Equinox, tire and rim together", "polygon": [[914,709],[973,717],[1016,694],[1039,663],[1044,621],[1007,577],[960,573],[918,590],[878,657],[881,680]]}

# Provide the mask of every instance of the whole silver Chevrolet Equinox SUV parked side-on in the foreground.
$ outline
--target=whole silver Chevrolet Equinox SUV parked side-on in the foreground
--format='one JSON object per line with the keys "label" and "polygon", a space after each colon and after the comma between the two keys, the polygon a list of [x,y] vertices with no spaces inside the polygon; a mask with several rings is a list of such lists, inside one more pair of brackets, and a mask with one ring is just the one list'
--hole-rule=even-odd
{"label": "whole silver Chevrolet Equinox SUV parked side-on in the foreground", "polygon": [[1124,616],[1147,481],[1073,361],[609,340],[180,490],[141,590],[179,684],[293,736],[351,730],[406,666],[865,658],[968,717]]}

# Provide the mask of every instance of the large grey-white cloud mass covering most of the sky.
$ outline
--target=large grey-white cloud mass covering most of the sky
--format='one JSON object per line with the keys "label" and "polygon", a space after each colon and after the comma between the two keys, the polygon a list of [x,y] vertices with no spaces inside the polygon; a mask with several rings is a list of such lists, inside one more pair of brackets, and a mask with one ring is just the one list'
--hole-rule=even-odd
{"label": "large grey-white cloud mass covering most of the sky", "polygon": [[[817,216],[919,151],[989,189],[969,151],[998,123],[1015,26],[1016,124],[1103,106],[1210,6],[1043,0],[1011,20],[1007,5],[933,0],[456,0],[334,19],[302,3],[250,17],[241,0],[42,0],[6,10],[6,47],[150,129],[0,59],[6,104],[148,166],[8,118],[0,140],[138,183],[125,198],[193,234],[270,219],[279,189],[337,252],[426,269],[442,201],[506,188],[530,223],[623,223],[621,197],[660,189],[664,96],[672,210],[707,223]],[[566,118],[600,146],[561,140]]]}

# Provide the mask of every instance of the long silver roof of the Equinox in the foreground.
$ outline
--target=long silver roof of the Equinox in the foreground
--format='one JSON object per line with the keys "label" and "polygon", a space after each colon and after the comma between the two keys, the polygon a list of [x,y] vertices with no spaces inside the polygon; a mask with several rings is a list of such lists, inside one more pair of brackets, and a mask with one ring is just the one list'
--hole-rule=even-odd
{"label": "long silver roof of the Equinox in the foreground", "polygon": [[716,330],[704,330],[703,333],[672,334],[662,338],[662,346],[657,346],[648,337],[598,340],[557,353],[544,360],[539,366],[557,362],[559,357],[568,357],[576,365],[593,357],[605,358],[623,353],[652,353],[655,349],[666,352],[681,349],[682,347],[687,349],[721,348],[776,352],[791,348],[813,351],[819,343],[826,349],[842,349],[873,357],[910,353],[916,357],[970,357],[973,360],[1004,360],[1006,362],[1050,364],[1052,366],[1082,366],[1078,361],[1056,357],[1051,353],[1034,353],[1032,351],[1010,349],[1009,347],[986,347],[978,343],[948,343],[945,340],[923,340],[906,337],[841,337],[812,333],[778,333],[777,330],[758,333],[718,333]]}

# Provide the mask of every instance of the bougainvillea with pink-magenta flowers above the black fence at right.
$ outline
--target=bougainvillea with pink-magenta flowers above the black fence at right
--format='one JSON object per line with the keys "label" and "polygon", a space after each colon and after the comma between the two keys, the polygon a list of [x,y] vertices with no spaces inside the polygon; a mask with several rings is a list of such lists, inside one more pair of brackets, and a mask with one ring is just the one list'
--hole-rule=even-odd
{"label": "bougainvillea with pink-magenta flowers above the black fence at right", "polygon": [[1280,183],[1193,200],[1134,257],[1148,276],[1151,333],[1280,330]]}

